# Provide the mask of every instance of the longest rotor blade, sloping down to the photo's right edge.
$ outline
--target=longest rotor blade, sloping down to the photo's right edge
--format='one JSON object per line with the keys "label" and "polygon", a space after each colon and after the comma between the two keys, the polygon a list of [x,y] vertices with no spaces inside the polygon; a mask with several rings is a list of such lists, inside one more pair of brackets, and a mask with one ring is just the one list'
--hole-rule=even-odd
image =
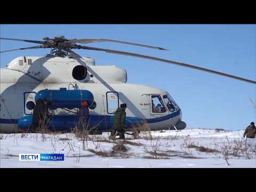
{"label": "longest rotor blade, sloping down to the photo's right edge", "polygon": [[193,66],[193,65],[188,65],[186,63],[181,63],[181,62],[171,61],[171,60],[167,60],[167,59],[151,57],[151,56],[148,56],[148,55],[142,55],[142,54],[130,53],[130,52],[124,52],[124,51],[100,49],[100,48],[88,47],[88,46],[81,46],[80,49],[95,50],[95,51],[105,51],[107,53],[122,54],[122,55],[128,55],[128,56],[132,56],[132,57],[139,57],[139,58],[144,58],[144,59],[162,61],[162,62],[171,63],[171,64],[182,66],[182,67],[188,67],[188,68],[202,70],[202,71],[206,71],[206,72],[217,74],[217,75],[221,75],[221,76],[226,76],[226,77],[234,78],[234,79],[237,79],[239,81],[244,81],[244,82],[247,82],[247,83],[256,84],[256,81],[252,81],[250,79],[245,79],[245,78],[242,78],[242,77],[237,77],[237,76],[234,76],[234,75],[229,75],[229,74],[221,73],[219,71],[214,71],[214,70],[206,69],[206,68],[203,68],[203,67],[197,67],[197,66]]}

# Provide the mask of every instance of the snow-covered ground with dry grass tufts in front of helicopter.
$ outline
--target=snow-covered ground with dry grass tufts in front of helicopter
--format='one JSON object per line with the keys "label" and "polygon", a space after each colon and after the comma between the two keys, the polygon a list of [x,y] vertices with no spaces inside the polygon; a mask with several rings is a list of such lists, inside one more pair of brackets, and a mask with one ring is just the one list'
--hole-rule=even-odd
{"label": "snow-covered ground with dry grass tufts in front of helicopter", "polygon": [[[256,167],[256,139],[242,131],[185,129],[141,132],[109,141],[109,133],[0,134],[0,167]],[[116,137],[118,138],[118,136]],[[64,161],[19,161],[19,154],[64,154]]]}

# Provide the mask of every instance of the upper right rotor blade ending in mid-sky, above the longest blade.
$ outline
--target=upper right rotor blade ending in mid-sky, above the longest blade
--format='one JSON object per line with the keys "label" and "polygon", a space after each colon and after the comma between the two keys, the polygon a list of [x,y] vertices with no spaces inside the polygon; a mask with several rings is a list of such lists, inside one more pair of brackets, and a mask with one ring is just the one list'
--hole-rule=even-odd
{"label": "upper right rotor blade ending in mid-sky, above the longest blade", "polygon": [[86,38],[86,39],[75,39],[71,40],[68,42],[65,42],[65,44],[74,44],[74,43],[97,43],[97,42],[115,42],[115,43],[124,43],[124,44],[130,44],[130,45],[136,45],[136,46],[143,46],[143,47],[148,47],[152,49],[158,49],[158,50],[166,50],[167,49],[161,48],[161,47],[155,47],[155,46],[149,46],[149,45],[142,45],[142,44],[137,44],[137,43],[129,43],[129,42],[123,42],[123,41],[116,41],[116,40],[111,40],[111,39],[99,39],[99,38]]}

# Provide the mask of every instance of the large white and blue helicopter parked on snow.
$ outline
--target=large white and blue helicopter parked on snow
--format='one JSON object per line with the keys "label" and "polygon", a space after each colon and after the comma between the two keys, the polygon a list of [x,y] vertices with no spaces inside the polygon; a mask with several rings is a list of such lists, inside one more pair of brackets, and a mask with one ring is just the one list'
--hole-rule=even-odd
{"label": "large white and blue helicopter parked on snow", "polygon": [[0,39],[40,44],[0,53],[51,49],[50,54],[43,57],[18,57],[7,64],[6,68],[1,68],[0,132],[30,129],[36,100],[43,97],[52,103],[50,130],[67,131],[75,127],[78,123],[76,114],[84,100],[89,101],[89,129],[95,129],[97,133],[109,132],[113,126],[114,113],[122,103],[127,104],[127,131],[132,130],[134,124],[145,122],[150,130],[155,131],[185,129],[186,123],[182,121],[181,109],[167,91],[149,85],[128,84],[125,69],[116,66],[95,66],[93,58],[81,57],[72,51],[74,49],[104,51],[161,61],[256,84],[250,79],[186,63],[77,44],[114,42],[166,50],[156,46],[111,39],[66,39],[62,35],[54,38],[44,37],[43,41],[2,37]]}

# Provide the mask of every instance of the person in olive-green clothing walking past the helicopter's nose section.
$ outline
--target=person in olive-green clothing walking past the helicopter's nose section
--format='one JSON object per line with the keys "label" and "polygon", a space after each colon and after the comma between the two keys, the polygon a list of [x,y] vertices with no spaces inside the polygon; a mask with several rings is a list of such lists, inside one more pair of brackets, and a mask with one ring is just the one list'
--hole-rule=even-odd
{"label": "person in olive-green clothing walking past the helicopter's nose section", "polygon": [[116,132],[119,134],[119,139],[125,139],[124,137],[124,123],[125,123],[125,117],[126,117],[126,103],[123,103],[120,105],[120,107],[117,108],[114,119],[113,119],[113,127],[110,134],[110,139],[115,139]]}

